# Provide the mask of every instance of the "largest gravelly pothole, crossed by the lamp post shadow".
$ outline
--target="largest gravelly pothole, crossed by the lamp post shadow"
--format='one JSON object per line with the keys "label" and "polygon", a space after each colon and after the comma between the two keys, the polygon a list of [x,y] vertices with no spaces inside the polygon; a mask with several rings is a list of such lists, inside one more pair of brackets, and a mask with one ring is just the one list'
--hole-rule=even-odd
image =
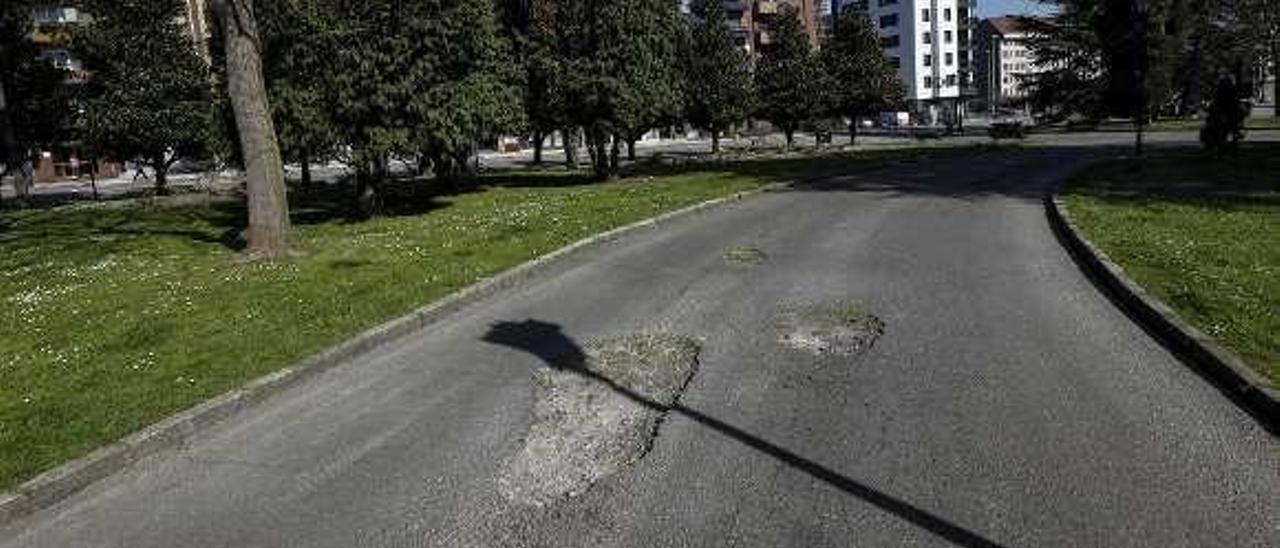
{"label": "largest gravelly pothole, crossed by the lamp post shadow", "polygon": [[698,369],[699,346],[668,334],[603,339],[534,374],[534,420],[498,485],[543,507],[585,493],[649,452]]}

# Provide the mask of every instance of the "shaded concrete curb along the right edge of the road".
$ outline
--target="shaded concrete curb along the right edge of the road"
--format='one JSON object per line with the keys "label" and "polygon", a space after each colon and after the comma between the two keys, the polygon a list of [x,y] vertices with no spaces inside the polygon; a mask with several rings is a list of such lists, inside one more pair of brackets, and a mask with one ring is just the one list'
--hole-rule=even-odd
{"label": "shaded concrete curb along the right edge of the road", "polygon": [[1280,389],[1125,275],[1120,265],[1089,242],[1059,195],[1046,197],[1044,209],[1053,232],[1068,251],[1130,318],[1156,335],[1183,362],[1217,383],[1219,388],[1266,428],[1272,431],[1280,428]]}

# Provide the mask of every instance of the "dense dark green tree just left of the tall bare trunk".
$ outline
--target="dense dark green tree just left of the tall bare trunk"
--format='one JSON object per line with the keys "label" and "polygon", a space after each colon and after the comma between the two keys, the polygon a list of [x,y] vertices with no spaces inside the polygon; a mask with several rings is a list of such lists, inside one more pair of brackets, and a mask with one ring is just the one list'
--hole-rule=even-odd
{"label": "dense dark green tree just left of the tall bare trunk", "polygon": [[91,70],[96,146],[155,172],[156,193],[182,157],[210,149],[209,65],[187,36],[182,0],[84,0],[93,19],[76,50]]}

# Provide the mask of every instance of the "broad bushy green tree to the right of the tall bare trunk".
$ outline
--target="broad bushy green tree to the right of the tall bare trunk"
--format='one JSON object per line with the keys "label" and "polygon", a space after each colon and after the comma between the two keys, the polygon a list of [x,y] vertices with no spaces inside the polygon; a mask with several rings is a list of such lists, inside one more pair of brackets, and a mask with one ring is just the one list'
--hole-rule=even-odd
{"label": "broad bushy green tree to the right of the tall bare trunk", "polygon": [[358,213],[381,209],[392,156],[420,156],[451,179],[477,141],[518,125],[520,74],[492,0],[315,4],[325,100],[351,150]]}

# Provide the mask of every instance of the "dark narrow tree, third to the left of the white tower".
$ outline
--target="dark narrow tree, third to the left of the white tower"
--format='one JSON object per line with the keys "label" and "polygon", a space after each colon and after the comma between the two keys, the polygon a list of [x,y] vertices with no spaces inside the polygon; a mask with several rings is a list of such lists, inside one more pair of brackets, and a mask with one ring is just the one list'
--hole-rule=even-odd
{"label": "dark narrow tree, third to the left of the white tower", "polygon": [[751,113],[751,60],[728,32],[724,3],[695,0],[691,8],[696,19],[685,55],[685,115],[712,134],[712,152],[719,154],[721,134]]}

